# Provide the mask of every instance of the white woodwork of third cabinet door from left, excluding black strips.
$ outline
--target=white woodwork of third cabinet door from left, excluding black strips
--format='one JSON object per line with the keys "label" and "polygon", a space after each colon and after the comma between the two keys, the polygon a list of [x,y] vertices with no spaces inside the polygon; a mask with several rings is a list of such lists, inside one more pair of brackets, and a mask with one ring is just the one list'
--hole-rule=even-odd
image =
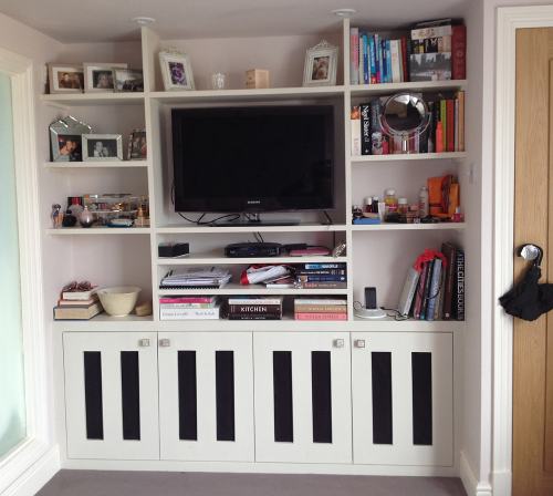
{"label": "white woodwork of third cabinet door from left, excluding black strips", "polygon": [[[340,328],[340,324],[336,326]],[[336,348],[343,340],[343,348]],[[293,442],[274,441],[273,351],[292,352]],[[311,352],[331,352],[332,443],[313,442]],[[351,463],[349,340],[344,332],[275,332],[253,335],[255,459]]]}

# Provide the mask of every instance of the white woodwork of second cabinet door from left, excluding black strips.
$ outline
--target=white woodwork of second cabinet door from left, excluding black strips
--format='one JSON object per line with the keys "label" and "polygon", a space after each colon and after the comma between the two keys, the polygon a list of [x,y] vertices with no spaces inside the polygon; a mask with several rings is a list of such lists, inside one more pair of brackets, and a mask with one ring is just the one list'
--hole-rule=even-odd
{"label": "white woodwork of second cabinet door from left, excluding black strips", "polygon": [[[159,433],[163,459],[253,462],[253,359],[250,332],[160,332]],[[163,340],[165,341],[161,345]],[[196,352],[197,441],[179,438],[178,352]],[[234,360],[234,441],[217,440],[216,351]]]}

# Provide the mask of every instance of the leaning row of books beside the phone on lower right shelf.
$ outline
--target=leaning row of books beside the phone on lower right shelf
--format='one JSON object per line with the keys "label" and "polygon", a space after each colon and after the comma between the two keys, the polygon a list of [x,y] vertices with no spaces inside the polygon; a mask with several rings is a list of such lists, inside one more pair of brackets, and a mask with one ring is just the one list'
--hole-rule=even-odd
{"label": "leaning row of books beside the phone on lower right shelf", "polygon": [[445,242],[409,268],[398,312],[417,320],[465,320],[465,251]]}

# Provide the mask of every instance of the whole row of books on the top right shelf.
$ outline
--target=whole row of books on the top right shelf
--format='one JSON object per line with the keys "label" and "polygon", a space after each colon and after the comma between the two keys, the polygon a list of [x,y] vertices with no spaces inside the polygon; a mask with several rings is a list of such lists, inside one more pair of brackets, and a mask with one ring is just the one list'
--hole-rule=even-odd
{"label": "whole row of books on the top right shelf", "polygon": [[351,84],[466,79],[467,31],[452,19],[419,22],[410,32],[349,30]]}

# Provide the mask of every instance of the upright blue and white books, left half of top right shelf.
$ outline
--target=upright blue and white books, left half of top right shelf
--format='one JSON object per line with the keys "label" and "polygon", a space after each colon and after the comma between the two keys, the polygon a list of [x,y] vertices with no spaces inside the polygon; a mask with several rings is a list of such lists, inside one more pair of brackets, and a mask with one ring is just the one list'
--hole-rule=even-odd
{"label": "upright blue and white books, left half of top right shelf", "polygon": [[409,81],[407,33],[371,33],[349,30],[349,79],[352,84]]}

